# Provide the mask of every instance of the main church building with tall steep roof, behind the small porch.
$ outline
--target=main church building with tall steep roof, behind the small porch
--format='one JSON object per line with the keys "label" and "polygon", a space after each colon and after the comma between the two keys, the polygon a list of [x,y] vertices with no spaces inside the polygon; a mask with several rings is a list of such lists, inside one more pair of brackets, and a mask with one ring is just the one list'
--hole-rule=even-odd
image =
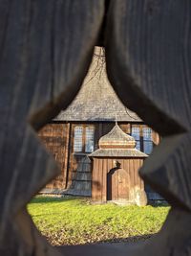
{"label": "main church building with tall steep roof, behind the small porch", "polygon": [[[134,138],[136,150],[142,156],[149,155],[153,147],[159,144],[159,134],[148,128],[136,113],[122,105],[117,98],[107,79],[104,52],[96,47],[92,65],[74,102],[38,133],[61,167],[61,175],[48,184],[42,193],[91,197],[94,190],[95,151],[101,150],[99,139],[115,127],[116,119],[121,132]],[[128,151],[117,149],[118,153],[125,150]],[[137,160],[142,164],[143,158],[138,160],[133,157],[129,165]],[[97,172],[101,172],[101,169],[98,168]],[[149,188],[147,196],[156,197]]]}

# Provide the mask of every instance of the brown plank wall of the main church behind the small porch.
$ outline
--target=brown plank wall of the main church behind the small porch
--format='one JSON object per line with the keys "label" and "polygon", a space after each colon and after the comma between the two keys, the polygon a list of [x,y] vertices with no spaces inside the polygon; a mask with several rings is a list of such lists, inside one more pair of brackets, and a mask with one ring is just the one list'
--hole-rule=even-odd
{"label": "brown plank wall of the main church behind the small porch", "polygon": [[[147,128],[143,123],[125,123],[120,122],[118,126],[128,134],[132,133],[132,129],[139,129],[139,145],[140,151],[144,151],[144,140],[142,129]],[[86,151],[86,128],[94,129],[94,151],[98,149],[98,140],[101,136],[108,133],[114,127],[114,122],[53,122],[42,128],[38,135],[45,147],[53,153],[55,160],[61,167],[61,175],[57,176],[44,190],[47,193],[64,193],[72,187],[72,183],[76,177],[77,166],[85,155],[90,152]],[[82,149],[74,151],[74,129],[82,129]],[[159,135],[152,130],[152,144],[159,144]],[[139,162],[138,162],[139,163]],[[132,168],[138,165],[136,160],[132,160]],[[112,160],[107,163],[111,165]],[[125,167],[126,169],[126,167]],[[84,180],[85,181],[85,180]],[[106,197],[106,196],[105,196]]]}

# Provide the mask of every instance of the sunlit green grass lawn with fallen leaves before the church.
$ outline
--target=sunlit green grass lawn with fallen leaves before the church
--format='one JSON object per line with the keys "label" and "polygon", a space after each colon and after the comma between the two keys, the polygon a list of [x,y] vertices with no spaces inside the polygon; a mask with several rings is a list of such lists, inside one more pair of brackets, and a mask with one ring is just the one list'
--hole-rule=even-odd
{"label": "sunlit green grass lawn with fallen leaves before the church", "polygon": [[159,231],[167,206],[91,205],[82,198],[33,198],[32,220],[51,244],[87,244],[146,239]]}

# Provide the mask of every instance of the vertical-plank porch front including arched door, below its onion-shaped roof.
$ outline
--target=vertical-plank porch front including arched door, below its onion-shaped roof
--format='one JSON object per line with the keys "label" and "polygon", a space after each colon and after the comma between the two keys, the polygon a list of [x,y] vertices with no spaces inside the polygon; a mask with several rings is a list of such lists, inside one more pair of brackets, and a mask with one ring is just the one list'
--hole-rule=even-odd
{"label": "vertical-plank porch front including arched door, below its onion-shaped roof", "polygon": [[[92,157],[91,157],[92,158]],[[120,163],[116,168],[114,162]],[[142,191],[143,181],[138,175],[143,159],[93,156],[92,198],[97,202],[125,201],[136,204],[137,191]]]}

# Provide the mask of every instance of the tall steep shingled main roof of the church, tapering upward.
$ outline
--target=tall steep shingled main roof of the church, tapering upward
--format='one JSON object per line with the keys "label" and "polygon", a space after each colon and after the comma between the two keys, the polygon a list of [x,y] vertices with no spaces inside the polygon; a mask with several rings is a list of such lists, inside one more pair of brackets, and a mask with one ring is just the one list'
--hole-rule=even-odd
{"label": "tall steep shingled main roof of the church, tapering upward", "polygon": [[73,103],[55,118],[59,121],[139,122],[138,115],[127,109],[107,79],[105,58],[101,48],[96,52],[82,87]]}

